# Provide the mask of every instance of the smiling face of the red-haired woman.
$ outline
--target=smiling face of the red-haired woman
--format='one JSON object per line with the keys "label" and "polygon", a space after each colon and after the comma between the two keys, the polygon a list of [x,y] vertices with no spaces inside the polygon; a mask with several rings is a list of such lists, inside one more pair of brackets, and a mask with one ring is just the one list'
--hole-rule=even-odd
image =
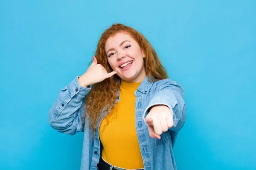
{"label": "smiling face of the red-haired woman", "polygon": [[146,72],[143,64],[144,53],[140,45],[126,33],[117,33],[105,43],[108,63],[125,82],[141,82]]}

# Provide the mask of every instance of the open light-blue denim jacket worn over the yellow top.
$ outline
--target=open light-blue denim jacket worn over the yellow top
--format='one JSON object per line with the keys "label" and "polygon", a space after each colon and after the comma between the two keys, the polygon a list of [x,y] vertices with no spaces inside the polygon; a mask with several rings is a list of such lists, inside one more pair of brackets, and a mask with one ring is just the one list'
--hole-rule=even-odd
{"label": "open light-blue denim jacket worn over the yellow top", "polygon": [[[99,140],[101,122],[95,130],[93,139],[88,120],[85,119],[85,126],[82,126],[81,118],[86,105],[84,97],[90,92],[90,88],[80,86],[78,78],[79,76],[59,91],[58,99],[49,110],[49,124],[55,130],[65,134],[74,135],[80,131],[84,132],[81,170],[97,170],[102,152],[102,143]],[[149,82],[146,77],[134,95],[136,96],[135,126],[145,170],[176,170],[172,149],[177,133],[186,121],[182,86],[169,78]],[[116,103],[119,101],[118,92]],[[162,133],[161,139],[151,138],[145,123],[145,116],[148,114],[149,108],[154,105],[166,105],[173,113],[174,125]]]}

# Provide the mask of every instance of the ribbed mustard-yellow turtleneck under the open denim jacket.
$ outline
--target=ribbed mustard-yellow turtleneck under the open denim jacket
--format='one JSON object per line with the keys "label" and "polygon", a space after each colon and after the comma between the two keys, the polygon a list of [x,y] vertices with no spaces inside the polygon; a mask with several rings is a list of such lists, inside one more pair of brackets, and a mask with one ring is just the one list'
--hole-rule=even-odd
{"label": "ribbed mustard-yellow turtleneck under the open denim jacket", "polygon": [[144,168],[135,129],[134,92],[140,83],[121,80],[120,101],[111,109],[111,113],[108,113],[99,127],[99,137],[103,144],[102,157],[116,167]]}

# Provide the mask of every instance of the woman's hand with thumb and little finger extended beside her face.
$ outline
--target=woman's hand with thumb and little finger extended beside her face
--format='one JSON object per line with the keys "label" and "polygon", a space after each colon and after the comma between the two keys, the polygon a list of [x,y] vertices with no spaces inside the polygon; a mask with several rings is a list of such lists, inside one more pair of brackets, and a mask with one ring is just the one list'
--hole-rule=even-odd
{"label": "woman's hand with thumb and little finger extended beside her face", "polygon": [[108,73],[101,64],[97,63],[98,62],[96,57],[93,56],[93,63],[90,65],[87,71],[78,79],[80,86],[87,87],[97,82],[102,82],[103,80],[116,74],[117,71],[112,71],[111,73]]}

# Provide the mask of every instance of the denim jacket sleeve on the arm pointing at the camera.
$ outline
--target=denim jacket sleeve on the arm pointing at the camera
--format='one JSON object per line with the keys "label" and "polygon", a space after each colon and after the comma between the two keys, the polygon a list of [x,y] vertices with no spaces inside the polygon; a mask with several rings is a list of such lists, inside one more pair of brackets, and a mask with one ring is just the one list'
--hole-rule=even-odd
{"label": "denim jacket sleeve on the arm pointing at the camera", "polygon": [[171,109],[173,126],[169,130],[178,132],[183,127],[186,121],[186,103],[181,85],[172,79],[166,79],[166,82],[159,87],[159,91],[149,100],[148,106],[143,113],[144,122],[150,108],[154,105],[166,105]]}

